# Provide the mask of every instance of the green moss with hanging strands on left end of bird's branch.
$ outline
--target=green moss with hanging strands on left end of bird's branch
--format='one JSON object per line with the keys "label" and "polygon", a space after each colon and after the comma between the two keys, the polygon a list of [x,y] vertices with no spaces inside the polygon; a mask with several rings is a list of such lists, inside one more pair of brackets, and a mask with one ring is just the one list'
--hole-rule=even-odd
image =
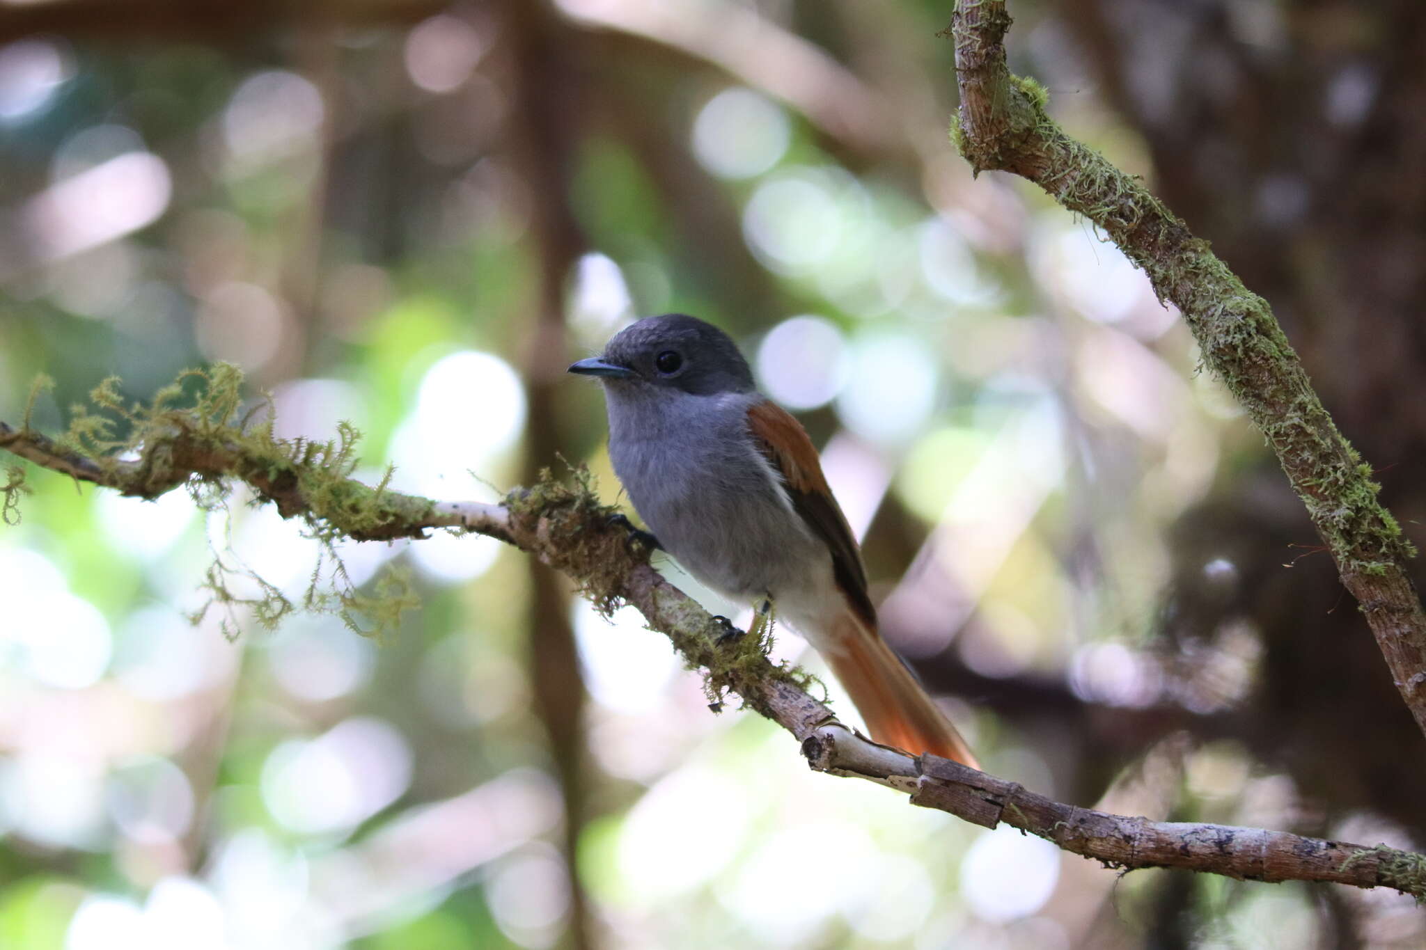
{"label": "green moss with hanging strands on left end of bird's branch", "polygon": [[[36,380],[31,407],[48,385],[43,377]],[[271,400],[260,396],[244,412],[242,392],[242,373],[228,363],[184,370],[147,404],[127,400],[120,380],[110,377],[94,387],[88,403],[73,409],[68,429],[56,444],[83,456],[97,467],[104,484],[123,494],[155,499],[185,487],[210,511],[225,504],[230,480],[245,480],[277,501],[284,517],[299,517],[319,541],[318,565],[299,602],[240,564],[231,548],[215,550],[204,580],[210,600],[194,620],[217,608],[224,634],[235,637],[242,612],[271,628],[301,608],[334,612],[364,635],[395,630],[402,612],[418,607],[409,578],[388,570],[374,593],[364,594],[351,583],[335,543],[379,537],[389,524],[416,523],[429,514],[432,503],[389,491],[389,471],[376,487],[352,481],[361,433],[349,423],[339,423],[335,437],[327,442],[278,439]],[[29,423],[27,409],[27,430]],[[4,520],[13,523],[23,479],[11,471],[0,491]],[[251,583],[257,594],[234,594],[235,577]]]}

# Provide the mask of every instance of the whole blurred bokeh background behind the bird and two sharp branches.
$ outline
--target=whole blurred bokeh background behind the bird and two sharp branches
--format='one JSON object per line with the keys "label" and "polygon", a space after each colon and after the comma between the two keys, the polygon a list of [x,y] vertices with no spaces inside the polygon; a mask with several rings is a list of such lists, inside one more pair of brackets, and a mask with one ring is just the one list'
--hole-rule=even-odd
{"label": "whole blurred bokeh background behind the bird and two sharp branches", "polygon": [[[1422,842],[1426,756],[1261,437],[1084,221],[947,141],[948,0],[0,0],[0,417],[240,365],[279,434],[617,497],[565,365],[732,332],[824,447],[884,631],[1081,805]],[[1426,7],[1021,0],[1012,67],[1269,298],[1420,536]],[[197,627],[318,546],[31,473],[0,528],[0,947],[1415,947],[1407,899],[1169,872],[810,773],[478,537],[384,642]],[[676,568],[666,565],[670,571]],[[783,657],[806,659],[784,635]],[[838,699],[831,687],[834,702]],[[850,715],[846,702],[837,708]]]}

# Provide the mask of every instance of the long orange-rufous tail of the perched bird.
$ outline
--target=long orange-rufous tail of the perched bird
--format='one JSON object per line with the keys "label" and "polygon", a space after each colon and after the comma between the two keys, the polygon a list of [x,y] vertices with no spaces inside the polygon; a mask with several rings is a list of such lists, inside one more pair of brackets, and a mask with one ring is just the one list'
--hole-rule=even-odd
{"label": "long orange-rufous tail of the perched bird", "polygon": [[823,654],[873,739],[911,755],[930,752],[980,768],[961,734],[876,630],[847,611],[830,632]]}

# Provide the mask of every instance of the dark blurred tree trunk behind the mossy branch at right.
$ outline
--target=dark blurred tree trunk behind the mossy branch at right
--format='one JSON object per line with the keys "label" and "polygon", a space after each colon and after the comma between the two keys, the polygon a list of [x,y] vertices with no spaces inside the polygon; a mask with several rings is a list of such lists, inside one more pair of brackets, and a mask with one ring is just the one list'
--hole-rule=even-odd
{"label": "dark blurred tree trunk behind the mossy branch at right", "polygon": [[[1072,0],[1062,28],[1142,134],[1154,189],[1273,306],[1383,500],[1426,516],[1426,4]],[[1426,755],[1386,665],[1266,459],[1181,523],[1169,632],[1249,618],[1265,644],[1251,735],[1330,819],[1426,830]],[[1235,590],[1204,564],[1228,557]],[[1422,577],[1417,573],[1417,584]]]}

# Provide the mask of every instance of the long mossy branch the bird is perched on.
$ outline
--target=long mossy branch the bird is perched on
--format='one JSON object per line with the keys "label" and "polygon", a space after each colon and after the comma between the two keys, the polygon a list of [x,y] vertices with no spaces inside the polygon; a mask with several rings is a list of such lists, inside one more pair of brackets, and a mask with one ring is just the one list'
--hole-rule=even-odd
{"label": "long mossy branch the bird is perched on", "polygon": [[0,447],[80,481],[150,499],[191,479],[238,479],[277,504],[284,517],[302,517],[348,537],[422,537],[429,528],[456,527],[501,538],[568,574],[600,608],[632,604],[673,641],[690,668],[703,671],[712,696],[736,692],[797,738],[813,769],[886,785],[908,793],[915,805],[984,828],[1004,822],[1118,869],[1181,867],[1265,882],[1336,882],[1426,899],[1426,856],[1412,852],[1094,812],[947,759],[914,758],[877,745],[837,722],[831,709],[809,695],[806,677],[769,662],[766,644],[750,637],[720,640],[723,628],[650,567],[649,550],[612,521],[615,508],[602,506],[585,484],[543,480],[512,491],[505,504],[431,501],[334,479],[329,471],[314,473],[309,469],[318,463],[297,457],[294,446],[277,453],[277,443],[241,429],[224,432],[201,420],[188,426],[175,412],[163,420],[165,434],[150,433],[134,461],[93,459],[3,422]]}

